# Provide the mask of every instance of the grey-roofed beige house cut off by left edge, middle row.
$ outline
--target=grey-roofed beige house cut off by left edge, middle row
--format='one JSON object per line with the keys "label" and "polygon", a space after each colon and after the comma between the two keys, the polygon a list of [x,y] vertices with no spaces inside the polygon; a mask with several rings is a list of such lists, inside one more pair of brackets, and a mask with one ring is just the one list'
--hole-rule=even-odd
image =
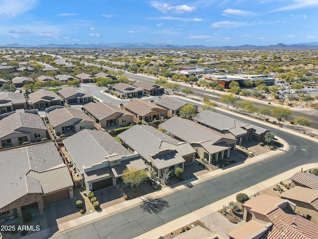
{"label": "grey-roofed beige house cut off by left edge, middle row", "polygon": [[39,115],[19,111],[1,119],[0,129],[1,147],[14,147],[47,137],[46,127]]}

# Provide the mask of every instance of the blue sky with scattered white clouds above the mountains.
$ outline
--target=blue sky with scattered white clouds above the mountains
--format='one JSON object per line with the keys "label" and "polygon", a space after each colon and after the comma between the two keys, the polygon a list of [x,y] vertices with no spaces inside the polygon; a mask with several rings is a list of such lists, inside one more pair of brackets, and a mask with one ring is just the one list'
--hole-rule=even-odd
{"label": "blue sky with scattered white clouds above the mountains", "polygon": [[0,45],[318,41],[318,0],[0,0]]}

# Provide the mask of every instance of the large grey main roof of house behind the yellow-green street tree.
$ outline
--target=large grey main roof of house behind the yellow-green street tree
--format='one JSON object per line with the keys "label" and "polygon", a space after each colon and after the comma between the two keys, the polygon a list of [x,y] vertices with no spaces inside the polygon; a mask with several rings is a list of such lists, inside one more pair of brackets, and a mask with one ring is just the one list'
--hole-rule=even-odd
{"label": "large grey main roof of house behind the yellow-green street tree", "polygon": [[84,129],[64,139],[63,143],[81,173],[86,167],[107,161],[107,156],[131,154],[106,131]]}

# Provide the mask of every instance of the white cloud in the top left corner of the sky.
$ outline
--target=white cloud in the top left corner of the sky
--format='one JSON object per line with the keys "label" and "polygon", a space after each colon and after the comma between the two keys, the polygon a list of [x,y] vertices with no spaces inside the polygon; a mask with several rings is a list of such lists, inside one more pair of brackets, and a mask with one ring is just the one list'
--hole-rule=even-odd
{"label": "white cloud in the top left corner of the sky", "polygon": [[33,9],[37,0],[0,0],[0,17],[13,17]]}

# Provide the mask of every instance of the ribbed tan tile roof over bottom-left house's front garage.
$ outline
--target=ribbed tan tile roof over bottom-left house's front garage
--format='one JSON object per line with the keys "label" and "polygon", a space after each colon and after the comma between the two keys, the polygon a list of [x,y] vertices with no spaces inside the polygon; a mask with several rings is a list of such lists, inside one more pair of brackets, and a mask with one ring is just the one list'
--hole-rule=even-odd
{"label": "ribbed tan tile roof over bottom-left house's front garage", "polygon": [[35,178],[40,182],[43,193],[53,193],[55,191],[72,187],[73,180],[71,178],[68,166],[62,164],[63,166],[58,168],[53,168],[44,172],[37,172],[30,170],[27,173],[28,177]]}

